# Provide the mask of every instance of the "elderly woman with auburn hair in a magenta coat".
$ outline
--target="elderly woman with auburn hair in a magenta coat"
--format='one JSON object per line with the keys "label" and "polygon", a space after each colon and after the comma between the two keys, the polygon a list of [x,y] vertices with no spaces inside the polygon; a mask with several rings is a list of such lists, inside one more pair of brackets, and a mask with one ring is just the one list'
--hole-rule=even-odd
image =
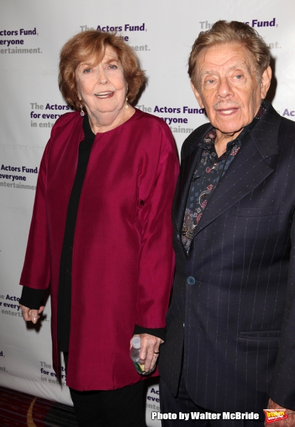
{"label": "elderly woman with auburn hair in a magenta coat", "polygon": [[50,284],[53,367],[60,349],[79,426],[145,425],[130,339],[151,371],[165,335],[178,160],[165,122],[129,104],[143,83],[113,34],[79,33],[60,53],[61,93],[80,112],[58,119],[43,154],[21,309],[35,323]]}

